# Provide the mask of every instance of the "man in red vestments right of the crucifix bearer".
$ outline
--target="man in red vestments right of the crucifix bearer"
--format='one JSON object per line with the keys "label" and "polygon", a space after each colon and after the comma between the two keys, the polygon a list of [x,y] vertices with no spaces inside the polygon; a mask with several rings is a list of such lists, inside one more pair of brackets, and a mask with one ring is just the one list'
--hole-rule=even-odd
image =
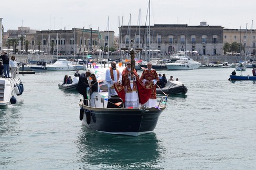
{"label": "man in red vestments right of the crucifix bearer", "polygon": [[155,107],[156,103],[156,83],[159,81],[159,77],[154,69],[152,69],[152,63],[147,63],[147,69],[143,70],[140,80],[145,87],[151,87],[152,91],[150,98],[147,100],[146,107]]}

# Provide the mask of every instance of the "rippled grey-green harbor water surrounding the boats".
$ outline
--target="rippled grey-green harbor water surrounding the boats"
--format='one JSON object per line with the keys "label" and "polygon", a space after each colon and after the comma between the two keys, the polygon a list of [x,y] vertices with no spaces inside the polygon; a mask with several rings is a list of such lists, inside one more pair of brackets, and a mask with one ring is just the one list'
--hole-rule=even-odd
{"label": "rippled grey-green harbor water surrounding the boats", "polygon": [[158,71],[188,93],[169,96],[154,132],[138,137],[82,126],[82,96],[58,88],[75,71],[19,75],[24,93],[0,109],[0,168],[256,169],[256,82],[228,81],[233,70]]}

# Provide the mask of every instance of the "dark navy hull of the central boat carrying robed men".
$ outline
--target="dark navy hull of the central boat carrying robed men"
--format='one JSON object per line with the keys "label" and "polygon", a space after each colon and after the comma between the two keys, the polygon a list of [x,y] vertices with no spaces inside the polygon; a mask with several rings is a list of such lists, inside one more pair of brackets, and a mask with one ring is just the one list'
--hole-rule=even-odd
{"label": "dark navy hull of the central boat carrying robed men", "polygon": [[137,136],[153,132],[158,117],[164,109],[165,107],[141,110],[138,108],[106,109],[84,106],[84,109],[80,111],[83,112],[82,123],[92,130]]}

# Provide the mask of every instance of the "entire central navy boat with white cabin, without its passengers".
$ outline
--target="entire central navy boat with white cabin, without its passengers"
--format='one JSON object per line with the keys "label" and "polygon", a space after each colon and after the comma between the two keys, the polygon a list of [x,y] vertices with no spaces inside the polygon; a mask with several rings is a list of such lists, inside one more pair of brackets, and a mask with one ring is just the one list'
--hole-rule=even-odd
{"label": "entire central navy boat with white cabin, without its passengers", "polygon": [[98,132],[138,136],[154,131],[158,117],[166,108],[167,96],[152,108],[106,108],[107,100],[108,92],[93,92],[88,99],[89,105],[80,100],[82,124]]}

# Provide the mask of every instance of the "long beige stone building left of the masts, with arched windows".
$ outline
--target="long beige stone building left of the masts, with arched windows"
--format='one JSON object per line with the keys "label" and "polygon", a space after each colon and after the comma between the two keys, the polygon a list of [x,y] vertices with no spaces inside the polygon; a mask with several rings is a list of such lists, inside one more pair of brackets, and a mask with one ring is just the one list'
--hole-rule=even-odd
{"label": "long beige stone building left of the masts, with arched windows", "polygon": [[54,54],[93,54],[102,47],[113,47],[114,31],[73,28],[72,30],[42,30],[27,33],[28,49]]}

